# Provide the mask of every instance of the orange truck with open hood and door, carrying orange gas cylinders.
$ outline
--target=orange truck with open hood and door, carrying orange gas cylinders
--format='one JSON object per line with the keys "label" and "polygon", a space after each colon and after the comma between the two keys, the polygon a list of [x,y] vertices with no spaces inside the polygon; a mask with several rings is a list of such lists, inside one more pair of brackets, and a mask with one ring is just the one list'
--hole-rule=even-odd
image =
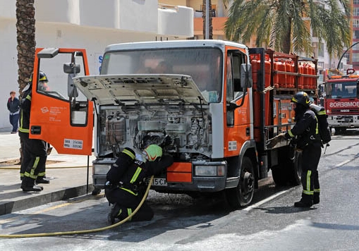
{"label": "orange truck with open hood and door, carrying orange gas cylinders", "polygon": [[123,148],[141,152],[149,144],[175,160],[154,178],[158,192],[224,192],[238,208],[269,171],[276,184],[300,184],[291,142],[271,149],[267,142],[293,125],[294,93],[316,98],[315,59],[221,40],[135,42],[109,45],[100,75],[87,75],[80,49],[51,66],[62,51],[37,51],[35,74],[48,68],[54,81],[48,75],[52,89],[39,92],[34,80],[30,137],[60,154],[90,154],[94,114],[92,194]]}

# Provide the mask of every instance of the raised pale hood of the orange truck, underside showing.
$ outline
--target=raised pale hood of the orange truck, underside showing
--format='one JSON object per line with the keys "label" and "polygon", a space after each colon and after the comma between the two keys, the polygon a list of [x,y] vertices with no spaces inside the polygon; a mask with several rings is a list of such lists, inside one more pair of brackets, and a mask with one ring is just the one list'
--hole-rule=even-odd
{"label": "raised pale hood of the orange truck, underside showing", "polygon": [[89,75],[73,78],[97,104],[208,104],[189,75]]}

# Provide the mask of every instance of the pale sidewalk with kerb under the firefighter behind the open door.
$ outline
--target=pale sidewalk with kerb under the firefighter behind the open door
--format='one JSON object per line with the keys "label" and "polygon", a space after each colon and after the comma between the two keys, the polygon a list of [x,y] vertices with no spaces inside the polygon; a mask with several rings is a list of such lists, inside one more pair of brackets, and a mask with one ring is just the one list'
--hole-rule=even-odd
{"label": "pale sidewalk with kerb under the firefighter behind the open door", "polygon": [[95,157],[58,154],[56,149],[47,157],[46,176],[50,183],[40,184],[44,187],[42,192],[23,192],[19,148],[18,134],[0,132],[0,215],[92,192],[92,160]]}

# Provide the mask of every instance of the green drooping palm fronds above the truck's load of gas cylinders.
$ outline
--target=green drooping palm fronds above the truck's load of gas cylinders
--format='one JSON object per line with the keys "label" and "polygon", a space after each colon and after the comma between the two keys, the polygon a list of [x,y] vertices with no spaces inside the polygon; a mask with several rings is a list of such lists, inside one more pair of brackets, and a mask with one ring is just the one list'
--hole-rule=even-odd
{"label": "green drooping palm fronds above the truck's load of gas cylinders", "polygon": [[350,17],[349,0],[233,0],[224,30],[233,41],[246,44],[254,37],[257,47],[310,56],[311,28],[329,56],[339,56],[351,44]]}

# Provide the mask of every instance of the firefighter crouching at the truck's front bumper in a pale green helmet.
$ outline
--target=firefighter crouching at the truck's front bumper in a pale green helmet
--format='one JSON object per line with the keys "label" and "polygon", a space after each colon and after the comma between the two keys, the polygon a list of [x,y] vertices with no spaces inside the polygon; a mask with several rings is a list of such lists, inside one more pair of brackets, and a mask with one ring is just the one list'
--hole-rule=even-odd
{"label": "firefighter crouching at the truck's front bumper in a pale green helmet", "polygon": [[[149,145],[144,155],[135,154],[126,147],[107,173],[105,195],[109,203],[114,204],[108,216],[109,224],[115,219],[125,219],[140,204],[145,194],[146,178],[164,171],[174,162],[170,155],[162,156],[162,148]],[[150,221],[154,216],[151,207],[144,202],[131,221]]]}

